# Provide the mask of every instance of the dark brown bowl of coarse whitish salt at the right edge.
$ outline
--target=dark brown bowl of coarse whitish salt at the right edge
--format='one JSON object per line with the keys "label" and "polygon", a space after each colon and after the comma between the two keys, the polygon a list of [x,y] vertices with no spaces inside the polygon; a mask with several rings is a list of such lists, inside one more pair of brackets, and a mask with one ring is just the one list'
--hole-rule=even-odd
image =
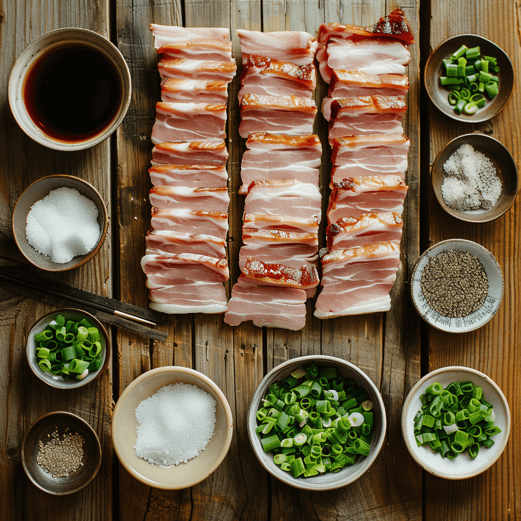
{"label": "dark brown bowl of coarse whitish salt at the right edge", "polygon": [[514,159],[497,139],[481,132],[446,144],[431,170],[441,207],[456,219],[488,222],[502,216],[517,195]]}

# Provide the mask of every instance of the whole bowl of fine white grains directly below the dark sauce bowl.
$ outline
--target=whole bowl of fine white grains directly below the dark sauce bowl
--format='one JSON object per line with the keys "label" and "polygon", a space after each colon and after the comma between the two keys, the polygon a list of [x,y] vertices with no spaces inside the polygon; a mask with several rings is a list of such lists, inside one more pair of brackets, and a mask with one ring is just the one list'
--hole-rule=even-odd
{"label": "whole bowl of fine white grains directly below the dark sauce bowl", "polygon": [[105,240],[108,213],[92,184],[73,176],[47,176],[20,195],[13,235],[24,257],[47,271],[64,271],[89,261]]}

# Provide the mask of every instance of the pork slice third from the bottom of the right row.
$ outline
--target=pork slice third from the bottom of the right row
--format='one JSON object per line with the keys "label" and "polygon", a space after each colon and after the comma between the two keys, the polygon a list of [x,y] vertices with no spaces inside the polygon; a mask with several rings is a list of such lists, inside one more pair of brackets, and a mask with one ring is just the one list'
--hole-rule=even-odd
{"label": "pork slice third from the bottom of the right row", "polygon": [[400,176],[367,176],[333,184],[327,210],[328,224],[343,217],[374,212],[403,212],[408,187]]}

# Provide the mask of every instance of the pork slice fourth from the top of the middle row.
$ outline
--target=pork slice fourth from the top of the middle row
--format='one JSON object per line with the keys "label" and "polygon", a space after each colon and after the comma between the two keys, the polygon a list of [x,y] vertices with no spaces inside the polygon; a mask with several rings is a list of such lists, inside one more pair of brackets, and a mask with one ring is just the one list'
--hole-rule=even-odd
{"label": "pork slice fourth from the top of the middle row", "polygon": [[253,132],[242,156],[240,194],[256,179],[297,179],[318,186],[322,146],[317,135]]}

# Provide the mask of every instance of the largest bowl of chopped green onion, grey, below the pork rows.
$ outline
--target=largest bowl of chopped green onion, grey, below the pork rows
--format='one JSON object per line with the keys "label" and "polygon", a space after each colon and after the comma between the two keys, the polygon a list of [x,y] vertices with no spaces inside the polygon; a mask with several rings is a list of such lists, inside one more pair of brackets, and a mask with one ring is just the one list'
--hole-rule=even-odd
{"label": "largest bowl of chopped green onion, grey, below the pork rows", "polygon": [[262,466],[305,490],[332,490],[362,476],[386,432],[373,381],[341,358],[301,356],[278,365],[257,387],[247,430]]}

